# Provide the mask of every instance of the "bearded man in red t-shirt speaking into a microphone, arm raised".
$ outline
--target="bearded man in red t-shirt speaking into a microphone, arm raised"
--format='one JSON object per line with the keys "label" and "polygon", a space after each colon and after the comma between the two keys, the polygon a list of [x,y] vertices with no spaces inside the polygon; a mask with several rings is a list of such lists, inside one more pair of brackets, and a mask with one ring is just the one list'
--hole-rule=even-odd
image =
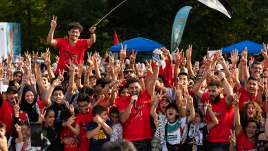
{"label": "bearded man in red t-shirt speaking into a microphone, arm raised", "polygon": [[155,82],[158,77],[159,65],[155,63],[146,89],[142,91],[139,78],[129,78],[126,84],[130,96],[118,100],[120,121],[123,124],[123,139],[133,141],[137,150],[150,150],[150,96],[155,91]]}

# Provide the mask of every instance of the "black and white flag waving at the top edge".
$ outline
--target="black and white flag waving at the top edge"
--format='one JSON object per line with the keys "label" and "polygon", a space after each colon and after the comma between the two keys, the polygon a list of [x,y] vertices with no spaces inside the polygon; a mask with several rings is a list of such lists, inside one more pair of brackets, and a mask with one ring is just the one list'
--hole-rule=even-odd
{"label": "black and white flag waving at the top edge", "polygon": [[219,12],[222,12],[223,14],[225,14],[231,19],[232,8],[231,8],[230,3],[227,0],[198,0],[198,1],[207,5],[210,8],[213,8],[215,10],[218,10]]}

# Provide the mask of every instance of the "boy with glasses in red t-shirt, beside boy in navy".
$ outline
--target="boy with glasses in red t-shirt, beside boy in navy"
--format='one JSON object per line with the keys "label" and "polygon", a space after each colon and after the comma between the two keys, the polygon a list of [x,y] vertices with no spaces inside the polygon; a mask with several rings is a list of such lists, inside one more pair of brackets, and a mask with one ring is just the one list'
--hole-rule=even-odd
{"label": "boy with glasses in red t-shirt, beside boy in navy", "polygon": [[80,145],[78,150],[89,151],[90,141],[87,139],[87,124],[92,121],[92,108],[89,103],[89,95],[86,93],[80,93],[77,97],[77,106],[79,113],[76,115],[75,126],[69,126],[69,130],[74,135],[79,136]]}

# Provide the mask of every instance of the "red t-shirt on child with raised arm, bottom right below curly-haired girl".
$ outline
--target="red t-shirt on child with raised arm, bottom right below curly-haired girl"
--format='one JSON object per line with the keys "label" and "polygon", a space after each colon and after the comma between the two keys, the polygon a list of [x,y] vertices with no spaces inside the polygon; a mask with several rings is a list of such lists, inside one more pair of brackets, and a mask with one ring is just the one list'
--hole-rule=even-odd
{"label": "red t-shirt on child with raised arm, bottom right below curly-haired girl", "polygon": [[252,143],[247,139],[247,135],[245,134],[244,130],[241,130],[239,135],[236,136],[237,140],[237,151],[243,150],[253,150],[255,147],[255,143]]}

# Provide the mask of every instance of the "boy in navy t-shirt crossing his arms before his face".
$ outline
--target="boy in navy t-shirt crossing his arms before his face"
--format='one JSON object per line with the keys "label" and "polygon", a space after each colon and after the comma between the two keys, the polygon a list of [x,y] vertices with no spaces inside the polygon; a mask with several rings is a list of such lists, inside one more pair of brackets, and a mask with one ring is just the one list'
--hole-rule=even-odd
{"label": "boy in navy t-shirt crossing his arms before his face", "polygon": [[92,109],[93,121],[87,124],[87,139],[91,139],[89,150],[102,150],[102,146],[110,141],[113,134],[112,124],[109,121],[106,108],[104,106],[94,106]]}

